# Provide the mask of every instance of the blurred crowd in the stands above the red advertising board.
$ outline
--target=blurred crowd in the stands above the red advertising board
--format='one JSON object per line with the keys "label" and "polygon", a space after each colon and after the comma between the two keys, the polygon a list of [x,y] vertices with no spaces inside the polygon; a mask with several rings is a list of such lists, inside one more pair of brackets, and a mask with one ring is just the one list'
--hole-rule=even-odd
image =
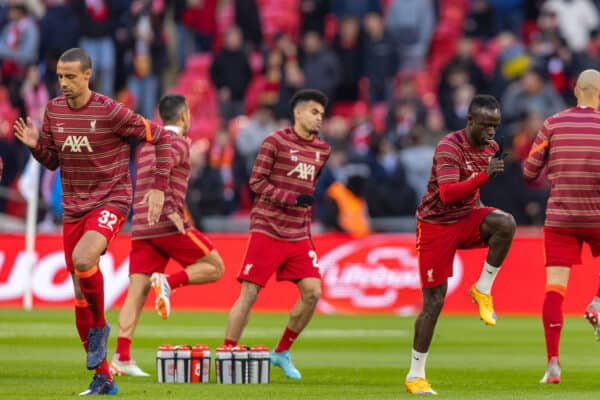
{"label": "blurred crowd in the stands above the red advertising board", "polygon": [[[25,216],[29,152],[12,123],[39,124],[59,94],[57,58],[82,47],[94,90],[148,118],[161,94],[187,97],[201,228],[247,219],[254,157],[304,87],[331,101],[314,207],[324,230],[410,230],[435,145],[465,127],[476,93],[500,100],[510,153],[482,201],[541,225],[547,182],[525,184],[520,164],[544,118],[574,104],[577,74],[600,67],[599,13],[600,0],[0,1],[0,215]],[[41,228],[60,228],[60,195],[58,171],[43,171]]]}

